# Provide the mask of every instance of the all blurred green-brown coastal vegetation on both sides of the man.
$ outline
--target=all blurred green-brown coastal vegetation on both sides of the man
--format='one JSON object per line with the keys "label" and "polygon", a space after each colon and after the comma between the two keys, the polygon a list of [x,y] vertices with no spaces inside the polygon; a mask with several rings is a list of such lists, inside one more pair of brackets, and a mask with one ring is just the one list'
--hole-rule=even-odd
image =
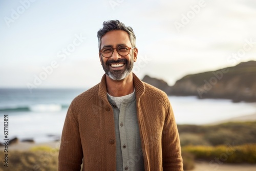
{"label": "all blurred green-brown coastal vegetation on both sides of the man", "polygon": [[[178,125],[184,170],[195,167],[195,161],[256,164],[256,121],[227,122],[217,125]],[[15,144],[14,144],[15,145]],[[11,149],[11,147],[10,147]],[[58,148],[35,146],[8,153],[9,170],[57,170]],[[3,156],[4,152],[0,152]],[[6,170],[0,165],[0,171]]]}

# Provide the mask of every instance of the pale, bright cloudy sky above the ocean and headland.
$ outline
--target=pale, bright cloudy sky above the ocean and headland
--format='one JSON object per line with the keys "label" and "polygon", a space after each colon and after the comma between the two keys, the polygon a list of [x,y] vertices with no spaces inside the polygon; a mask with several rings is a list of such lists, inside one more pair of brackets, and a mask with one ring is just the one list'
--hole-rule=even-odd
{"label": "pale, bright cloudy sky above the ocean and headland", "polygon": [[0,0],[0,18],[0,88],[94,86],[104,74],[97,31],[111,19],[133,28],[141,79],[172,86],[256,60],[254,0]]}

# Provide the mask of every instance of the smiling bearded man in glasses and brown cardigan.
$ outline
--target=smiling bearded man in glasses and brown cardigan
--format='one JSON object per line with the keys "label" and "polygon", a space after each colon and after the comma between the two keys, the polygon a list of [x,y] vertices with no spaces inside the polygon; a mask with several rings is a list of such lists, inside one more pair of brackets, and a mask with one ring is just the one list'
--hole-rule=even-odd
{"label": "smiling bearded man in glasses and brown cardigan", "polygon": [[[132,73],[136,37],[118,20],[98,31],[101,82],[77,96],[63,126],[59,170],[183,170],[167,95]],[[83,163],[82,163],[83,162]]]}

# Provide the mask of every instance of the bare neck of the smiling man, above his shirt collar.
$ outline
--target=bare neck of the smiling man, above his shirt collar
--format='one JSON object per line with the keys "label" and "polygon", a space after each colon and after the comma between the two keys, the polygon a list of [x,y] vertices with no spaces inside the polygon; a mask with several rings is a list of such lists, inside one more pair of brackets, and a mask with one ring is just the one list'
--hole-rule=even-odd
{"label": "bare neck of the smiling man, above his shirt collar", "polygon": [[109,95],[114,97],[125,96],[133,93],[133,73],[130,73],[123,80],[113,80],[109,76],[106,76],[106,91]]}

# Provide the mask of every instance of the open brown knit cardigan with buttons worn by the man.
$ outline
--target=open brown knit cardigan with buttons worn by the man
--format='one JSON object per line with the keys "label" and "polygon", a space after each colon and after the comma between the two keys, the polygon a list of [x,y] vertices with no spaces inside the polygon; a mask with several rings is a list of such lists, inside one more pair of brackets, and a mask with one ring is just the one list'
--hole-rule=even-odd
{"label": "open brown knit cardigan with buttons worn by the man", "polygon": [[[60,171],[116,170],[115,124],[106,96],[106,76],[71,103],[59,149]],[[133,74],[141,156],[145,170],[183,170],[180,140],[172,106],[161,90]]]}

